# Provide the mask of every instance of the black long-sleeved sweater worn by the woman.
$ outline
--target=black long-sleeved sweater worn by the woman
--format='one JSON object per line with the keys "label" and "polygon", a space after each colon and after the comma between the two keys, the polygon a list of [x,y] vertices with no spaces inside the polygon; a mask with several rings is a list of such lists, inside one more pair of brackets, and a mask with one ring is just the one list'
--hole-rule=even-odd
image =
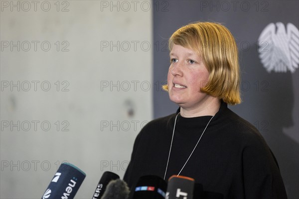
{"label": "black long-sleeved sweater worn by the woman", "polygon": [[[130,188],[141,176],[164,178],[176,114],[149,122],[137,136],[124,177]],[[165,180],[179,173],[211,117],[178,115]],[[276,159],[264,138],[224,102],[180,175],[195,179],[205,193],[224,199],[287,199]]]}

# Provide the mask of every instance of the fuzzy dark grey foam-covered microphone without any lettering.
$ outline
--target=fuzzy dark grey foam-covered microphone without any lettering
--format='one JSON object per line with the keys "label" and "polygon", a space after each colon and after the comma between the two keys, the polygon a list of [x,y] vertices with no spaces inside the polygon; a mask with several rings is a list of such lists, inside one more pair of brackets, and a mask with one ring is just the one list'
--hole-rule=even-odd
{"label": "fuzzy dark grey foam-covered microphone without any lettering", "polygon": [[127,183],[123,180],[112,180],[101,199],[128,199],[130,194]]}

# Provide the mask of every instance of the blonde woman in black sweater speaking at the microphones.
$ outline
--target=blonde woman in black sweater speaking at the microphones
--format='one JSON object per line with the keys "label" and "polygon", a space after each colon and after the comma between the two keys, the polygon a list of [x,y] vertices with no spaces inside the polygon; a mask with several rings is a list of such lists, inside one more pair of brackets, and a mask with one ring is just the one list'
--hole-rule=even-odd
{"label": "blonde woman in black sweater speaking at the microphones", "polygon": [[132,188],[141,176],[181,175],[201,184],[206,198],[287,199],[265,140],[227,108],[241,102],[230,31],[218,23],[188,24],[172,34],[169,50],[163,88],[179,108],[141,130],[124,180]]}

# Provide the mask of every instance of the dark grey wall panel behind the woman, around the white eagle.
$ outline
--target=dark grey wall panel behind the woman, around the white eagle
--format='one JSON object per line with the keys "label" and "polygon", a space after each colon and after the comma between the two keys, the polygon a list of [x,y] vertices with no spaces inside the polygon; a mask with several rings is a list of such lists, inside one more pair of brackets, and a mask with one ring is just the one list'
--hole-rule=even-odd
{"label": "dark grey wall panel behind the woman, around the white eagle", "polygon": [[299,1],[160,0],[153,6],[154,117],[177,109],[160,89],[169,67],[167,39],[190,22],[221,22],[235,36],[240,53],[243,102],[230,108],[260,130],[278,159],[289,199],[299,199],[299,69],[269,73],[257,50],[258,38],[269,23],[293,23],[299,28]]}

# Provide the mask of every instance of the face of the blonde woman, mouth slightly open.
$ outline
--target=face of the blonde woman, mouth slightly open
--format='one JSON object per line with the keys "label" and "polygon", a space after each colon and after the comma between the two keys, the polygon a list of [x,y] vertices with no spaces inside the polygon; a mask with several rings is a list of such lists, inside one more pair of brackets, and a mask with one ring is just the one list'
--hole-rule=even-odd
{"label": "face of the blonde woman, mouth slightly open", "polygon": [[189,48],[174,44],[167,75],[170,100],[184,109],[200,108],[211,97],[200,91],[208,80],[209,72],[201,57]]}

